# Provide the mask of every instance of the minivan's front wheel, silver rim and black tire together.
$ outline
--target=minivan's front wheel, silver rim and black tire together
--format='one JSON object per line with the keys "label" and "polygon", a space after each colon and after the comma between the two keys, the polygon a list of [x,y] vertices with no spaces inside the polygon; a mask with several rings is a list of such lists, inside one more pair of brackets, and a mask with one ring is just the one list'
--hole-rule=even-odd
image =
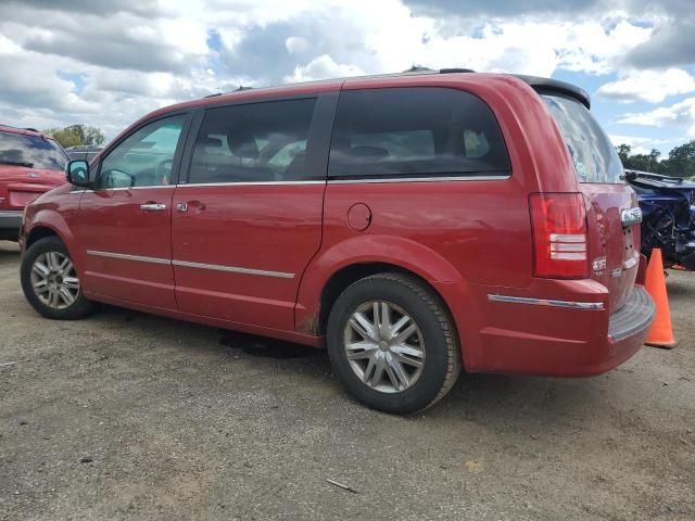
{"label": "minivan's front wheel, silver rim and black tire together", "polygon": [[22,260],[20,278],[24,296],[46,318],[76,320],[92,310],[92,303],[83,294],[70,252],[58,237],[46,237],[29,246]]}

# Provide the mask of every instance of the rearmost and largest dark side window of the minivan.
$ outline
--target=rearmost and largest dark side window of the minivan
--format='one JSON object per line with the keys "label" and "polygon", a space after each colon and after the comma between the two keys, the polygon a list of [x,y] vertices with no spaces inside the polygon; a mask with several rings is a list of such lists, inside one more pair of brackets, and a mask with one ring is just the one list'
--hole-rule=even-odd
{"label": "rearmost and largest dark side window of the minivan", "polygon": [[507,176],[510,169],[495,117],[472,94],[439,87],[340,94],[332,178]]}

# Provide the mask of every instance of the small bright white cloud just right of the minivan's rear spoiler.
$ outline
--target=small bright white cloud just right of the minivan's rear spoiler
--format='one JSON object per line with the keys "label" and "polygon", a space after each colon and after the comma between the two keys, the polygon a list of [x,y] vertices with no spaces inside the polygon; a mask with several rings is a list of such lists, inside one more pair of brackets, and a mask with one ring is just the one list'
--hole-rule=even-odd
{"label": "small bright white cloud just right of the minivan's rear spoiler", "polygon": [[597,96],[623,103],[648,101],[660,103],[669,96],[695,91],[695,78],[681,68],[667,71],[639,71],[623,75],[619,80],[603,85]]}

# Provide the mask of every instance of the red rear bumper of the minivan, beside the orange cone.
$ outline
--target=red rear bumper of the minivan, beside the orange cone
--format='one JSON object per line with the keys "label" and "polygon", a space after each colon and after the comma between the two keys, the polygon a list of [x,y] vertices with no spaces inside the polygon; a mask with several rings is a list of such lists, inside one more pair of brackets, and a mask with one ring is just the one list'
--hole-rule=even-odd
{"label": "red rear bumper of the minivan, beside the orange cone", "polygon": [[[619,366],[640,351],[655,315],[643,287],[635,284],[626,305],[610,314],[602,284],[558,284],[565,295],[555,294],[552,300],[505,300],[489,288],[470,288],[468,297],[478,305],[452,309],[466,370],[589,377]],[[572,287],[573,297],[565,291]]]}

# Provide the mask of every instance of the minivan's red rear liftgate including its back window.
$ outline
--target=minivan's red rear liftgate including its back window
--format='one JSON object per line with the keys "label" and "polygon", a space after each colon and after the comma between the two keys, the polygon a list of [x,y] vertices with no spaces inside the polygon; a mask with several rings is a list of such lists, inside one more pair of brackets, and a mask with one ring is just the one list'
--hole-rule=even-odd
{"label": "minivan's red rear liftgate including its back window", "polygon": [[589,109],[569,97],[542,98],[565,138],[584,196],[590,276],[608,289],[614,313],[630,296],[640,264],[636,194],[624,182],[620,157]]}

